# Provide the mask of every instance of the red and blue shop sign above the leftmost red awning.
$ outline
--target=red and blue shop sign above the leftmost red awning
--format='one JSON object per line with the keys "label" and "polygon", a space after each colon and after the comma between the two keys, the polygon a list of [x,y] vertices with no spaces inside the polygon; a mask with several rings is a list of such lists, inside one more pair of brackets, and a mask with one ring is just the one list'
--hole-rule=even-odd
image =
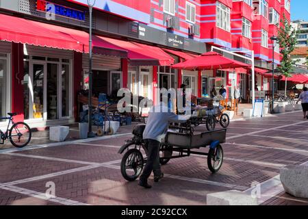
{"label": "red and blue shop sign above the leftmost red awning", "polygon": [[59,16],[64,16],[66,18],[73,18],[78,21],[86,20],[86,13],[75,10],[73,8],[68,8],[66,6],[58,5],[51,3],[49,1],[37,0],[36,1],[36,10],[40,12],[49,12],[51,14],[56,14]]}

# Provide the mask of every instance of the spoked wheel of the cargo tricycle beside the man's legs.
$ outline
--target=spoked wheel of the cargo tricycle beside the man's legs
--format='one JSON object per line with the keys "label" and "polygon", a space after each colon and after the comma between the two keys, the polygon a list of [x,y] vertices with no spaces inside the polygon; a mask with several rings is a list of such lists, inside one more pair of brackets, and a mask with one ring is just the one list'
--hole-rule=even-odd
{"label": "spoked wheel of the cargo tricycle beside the man's legs", "polygon": [[138,149],[129,149],[121,161],[121,174],[127,181],[135,181],[142,173],[144,159]]}

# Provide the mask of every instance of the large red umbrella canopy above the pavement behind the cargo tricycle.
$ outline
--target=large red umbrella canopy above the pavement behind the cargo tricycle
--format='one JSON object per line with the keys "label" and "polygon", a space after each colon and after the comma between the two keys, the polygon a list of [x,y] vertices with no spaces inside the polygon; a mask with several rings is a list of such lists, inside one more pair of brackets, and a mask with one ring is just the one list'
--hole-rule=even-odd
{"label": "large red umbrella canopy above the pavement behind the cargo tricycle", "polygon": [[187,60],[172,66],[172,68],[186,70],[211,70],[224,68],[247,68],[248,64],[231,60],[216,52],[203,53],[192,60]]}

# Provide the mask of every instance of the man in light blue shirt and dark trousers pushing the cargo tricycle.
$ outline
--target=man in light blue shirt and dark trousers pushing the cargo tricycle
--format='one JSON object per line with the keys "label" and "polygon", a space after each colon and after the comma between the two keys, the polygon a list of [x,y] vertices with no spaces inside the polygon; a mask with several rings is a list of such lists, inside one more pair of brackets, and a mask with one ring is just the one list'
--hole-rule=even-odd
{"label": "man in light blue shirt and dark trousers pushing the cargo tricycle", "polygon": [[152,171],[154,173],[155,182],[158,182],[159,179],[164,177],[164,173],[160,169],[159,164],[159,146],[162,142],[162,138],[166,135],[170,123],[185,123],[188,118],[190,118],[190,116],[178,116],[170,112],[167,103],[162,101],[162,96],[160,98],[160,103],[151,108],[143,133],[148,159],[146,160],[142,175],[140,175],[138,185],[147,189],[151,188],[152,186],[148,184],[148,178]]}

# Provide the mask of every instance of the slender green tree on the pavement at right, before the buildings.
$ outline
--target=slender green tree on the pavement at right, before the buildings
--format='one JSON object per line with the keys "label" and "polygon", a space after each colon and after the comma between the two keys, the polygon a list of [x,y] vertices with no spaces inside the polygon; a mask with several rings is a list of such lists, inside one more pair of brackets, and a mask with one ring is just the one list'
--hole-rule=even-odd
{"label": "slender green tree on the pavement at right, before the buildings", "polygon": [[[283,19],[281,20],[283,25],[279,27],[278,40],[280,53],[281,53],[281,62],[277,67],[279,72],[285,75],[285,77],[291,77],[292,66],[295,64],[294,60],[291,59],[291,53],[295,49],[297,44],[297,34],[298,32],[292,28],[292,25],[285,14],[283,14]],[[285,94],[287,93],[287,79],[285,79]]]}

